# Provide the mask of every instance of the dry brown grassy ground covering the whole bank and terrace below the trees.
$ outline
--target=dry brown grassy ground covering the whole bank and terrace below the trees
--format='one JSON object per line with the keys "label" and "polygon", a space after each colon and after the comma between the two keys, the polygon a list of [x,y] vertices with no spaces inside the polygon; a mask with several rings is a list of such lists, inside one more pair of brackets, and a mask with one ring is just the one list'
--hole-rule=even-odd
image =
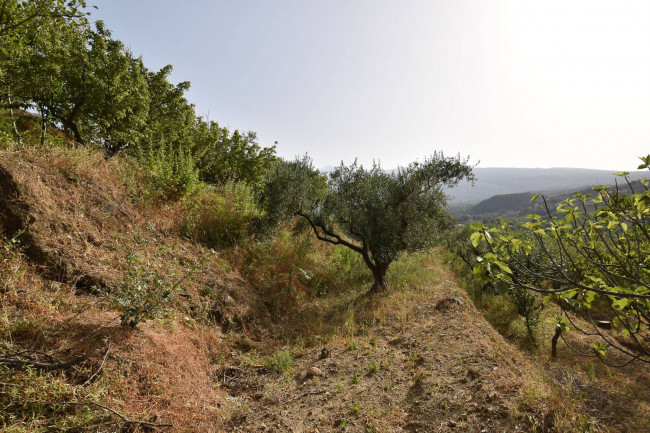
{"label": "dry brown grassy ground covering the whole bank and terrace below the trees", "polygon": [[[0,367],[4,430],[126,427],[93,402],[179,432],[650,429],[645,367],[564,346],[551,363],[546,324],[521,350],[523,325],[496,300],[477,309],[440,251],[402,257],[368,297],[345,249],[281,233],[215,252],[183,236],[193,203],[141,182],[85,149],[0,152],[0,357],[84,358]],[[182,281],[135,329],[115,301],[133,266]]]}

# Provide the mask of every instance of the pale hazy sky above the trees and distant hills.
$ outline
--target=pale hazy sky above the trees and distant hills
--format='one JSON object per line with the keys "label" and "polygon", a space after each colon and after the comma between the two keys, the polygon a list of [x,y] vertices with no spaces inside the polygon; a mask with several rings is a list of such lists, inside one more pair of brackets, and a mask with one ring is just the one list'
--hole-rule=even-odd
{"label": "pale hazy sky above the trees and distant hills", "polygon": [[631,170],[650,153],[650,2],[89,0],[284,158]]}

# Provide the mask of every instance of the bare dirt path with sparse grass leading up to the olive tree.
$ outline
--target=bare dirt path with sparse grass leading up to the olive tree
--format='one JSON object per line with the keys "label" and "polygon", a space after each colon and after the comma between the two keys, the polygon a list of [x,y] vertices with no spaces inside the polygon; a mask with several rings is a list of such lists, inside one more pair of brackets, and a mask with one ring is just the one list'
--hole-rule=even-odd
{"label": "bare dirt path with sparse grass leading up to the olive tree", "polygon": [[384,321],[363,339],[331,343],[326,358],[306,350],[291,373],[224,368],[221,386],[239,405],[233,431],[529,431],[522,419],[540,417],[516,415],[526,361],[453,282],[432,293],[406,326]]}

